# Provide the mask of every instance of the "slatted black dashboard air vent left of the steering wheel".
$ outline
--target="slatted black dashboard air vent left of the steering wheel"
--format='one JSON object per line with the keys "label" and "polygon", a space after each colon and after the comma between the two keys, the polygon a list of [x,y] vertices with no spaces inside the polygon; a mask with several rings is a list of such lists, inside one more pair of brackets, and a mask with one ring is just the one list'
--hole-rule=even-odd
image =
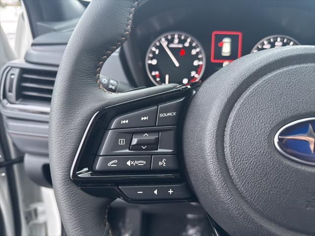
{"label": "slatted black dashboard air vent left of the steering wheel", "polygon": [[21,103],[50,103],[57,71],[22,69],[17,97]]}

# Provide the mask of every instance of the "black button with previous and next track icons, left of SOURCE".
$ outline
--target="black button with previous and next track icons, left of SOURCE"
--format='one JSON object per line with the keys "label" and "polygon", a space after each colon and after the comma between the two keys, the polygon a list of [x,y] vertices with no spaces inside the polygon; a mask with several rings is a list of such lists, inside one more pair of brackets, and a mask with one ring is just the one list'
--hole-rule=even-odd
{"label": "black button with previous and next track icons, left of SOURCE", "polygon": [[155,126],[157,121],[157,110],[157,106],[154,106],[136,112],[124,114],[114,118],[108,127],[110,129],[121,129]]}

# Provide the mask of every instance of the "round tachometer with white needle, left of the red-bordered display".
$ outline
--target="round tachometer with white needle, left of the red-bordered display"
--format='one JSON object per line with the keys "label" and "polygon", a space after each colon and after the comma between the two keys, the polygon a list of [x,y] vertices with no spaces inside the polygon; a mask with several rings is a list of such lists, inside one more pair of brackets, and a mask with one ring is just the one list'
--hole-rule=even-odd
{"label": "round tachometer with white needle, left of the red-bordered display", "polygon": [[200,80],[205,53],[200,43],[187,33],[164,33],[151,44],[146,69],[155,85],[188,84]]}

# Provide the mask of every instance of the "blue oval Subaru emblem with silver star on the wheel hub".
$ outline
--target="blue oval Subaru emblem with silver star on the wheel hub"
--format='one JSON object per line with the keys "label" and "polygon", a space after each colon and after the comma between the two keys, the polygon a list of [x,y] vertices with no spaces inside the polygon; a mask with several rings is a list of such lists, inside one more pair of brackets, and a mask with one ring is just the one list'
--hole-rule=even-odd
{"label": "blue oval Subaru emblem with silver star on the wheel hub", "polygon": [[315,118],[305,118],[284,125],[275,135],[277,150],[285,157],[315,165]]}

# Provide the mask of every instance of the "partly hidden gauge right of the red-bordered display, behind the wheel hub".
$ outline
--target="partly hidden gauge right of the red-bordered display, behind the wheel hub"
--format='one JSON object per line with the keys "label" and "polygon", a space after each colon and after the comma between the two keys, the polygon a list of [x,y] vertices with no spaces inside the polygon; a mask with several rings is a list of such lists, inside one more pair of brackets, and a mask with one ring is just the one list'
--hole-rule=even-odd
{"label": "partly hidden gauge right of the red-bordered display, behind the wheel hub", "polygon": [[300,45],[295,39],[285,35],[271,35],[261,39],[252,49],[252,53],[269,48]]}

